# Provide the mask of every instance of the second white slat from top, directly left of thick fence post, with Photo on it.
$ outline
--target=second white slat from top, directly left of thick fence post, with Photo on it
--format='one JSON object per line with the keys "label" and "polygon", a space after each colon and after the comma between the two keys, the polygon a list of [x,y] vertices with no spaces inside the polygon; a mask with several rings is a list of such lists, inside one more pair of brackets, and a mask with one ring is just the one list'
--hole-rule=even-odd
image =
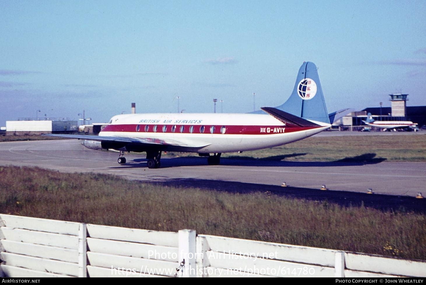
{"label": "second white slat from top, directly left of thick fence post, with Photo on it", "polygon": [[87,238],[89,251],[103,254],[124,255],[157,259],[166,261],[178,261],[178,248],[160,245],[147,245],[135,242],[119,242],[107,239]]}

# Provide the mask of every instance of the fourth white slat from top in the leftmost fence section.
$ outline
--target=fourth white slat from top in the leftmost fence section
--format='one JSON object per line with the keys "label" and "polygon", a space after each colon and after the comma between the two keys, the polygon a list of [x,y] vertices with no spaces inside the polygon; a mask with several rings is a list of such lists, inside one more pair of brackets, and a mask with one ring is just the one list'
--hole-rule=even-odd
{"label": "fourth white slat from top in the leftmost fence section", "polygon": [[8,252],[0,253],[0,259],[10,266],[22,267],[47,273],[78,276],[78,266],[75,263],[20,254],[11,254]]}

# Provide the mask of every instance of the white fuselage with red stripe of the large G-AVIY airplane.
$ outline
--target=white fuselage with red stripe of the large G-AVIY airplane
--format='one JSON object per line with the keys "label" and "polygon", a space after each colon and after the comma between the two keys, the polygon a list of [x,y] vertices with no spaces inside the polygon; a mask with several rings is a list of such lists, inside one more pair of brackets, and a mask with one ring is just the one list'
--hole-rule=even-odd
{"label": "white fuselage with red stripe of the large G-AVIY airplane", "polygon": [[284,145],[317,134],[331,125],[289,126],[264,114],[122,114],[99,133],[170,142],[174,151],[224,153]]}

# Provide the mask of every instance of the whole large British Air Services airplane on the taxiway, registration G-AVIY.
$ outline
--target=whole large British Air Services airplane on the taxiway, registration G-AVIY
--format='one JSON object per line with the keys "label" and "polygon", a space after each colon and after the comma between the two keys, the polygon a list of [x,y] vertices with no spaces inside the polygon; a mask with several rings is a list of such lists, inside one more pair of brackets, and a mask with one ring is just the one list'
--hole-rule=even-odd
{"label": "whole large British Air Services airplane on the taxiway, registration G-AVIY", "polygon": [[46,134],[83,140],[90,149],[146,152],[148,168],[159,168],[163,151],[197,153],[218,165],[222,153],[271,148],[310,137],[331,127],[317,66],[304,62],[288,100],[263,114],[121,114],[95,135]]}

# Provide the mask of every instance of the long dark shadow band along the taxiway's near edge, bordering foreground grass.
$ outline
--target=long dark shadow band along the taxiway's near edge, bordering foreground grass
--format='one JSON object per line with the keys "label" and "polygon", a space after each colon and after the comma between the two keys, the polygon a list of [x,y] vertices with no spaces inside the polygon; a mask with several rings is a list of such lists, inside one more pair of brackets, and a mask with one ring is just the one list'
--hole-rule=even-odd
{"label": "long dark shadow band along the taxiway's near edge, bordering foreground grass", "polygon": [[[282,197],[307,199],[321,202],[319,206],[326,206],[326,202],[336,203],[340,206],[365,206],[383,211],[403,211],[426,213],[426,199],[416,199],[408,196],[394,196],[384,194],[366,194],[350,191],[335,191],[299,187],[281,187],[277,185],[263,185],[233,181],[200,180],[179,178],[161,182],[148,182],[153,185],[174,187],[195,187],[204,190],[224,191],[229,193],[255,193],[266,191]],[[182,189],[182,191],[185,191]]]}

